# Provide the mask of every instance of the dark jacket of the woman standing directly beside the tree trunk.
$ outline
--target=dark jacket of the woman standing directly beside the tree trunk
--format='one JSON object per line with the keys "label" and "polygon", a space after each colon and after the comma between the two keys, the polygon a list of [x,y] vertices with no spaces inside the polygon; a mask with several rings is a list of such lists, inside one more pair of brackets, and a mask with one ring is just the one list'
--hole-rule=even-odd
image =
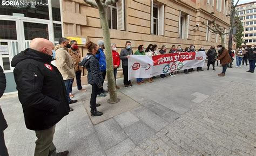
{"label": "dark jacket of the woman standing directly beside the tree trunk", "polygon": [[87,74],[87,81],[89,84],[96,84],[98,88],[102,87],[102,72],[100,72],[99,68],[99,61],[95,55],[91,53],[87,53],[85,56],[83,67],[86,67],[88,74]]}

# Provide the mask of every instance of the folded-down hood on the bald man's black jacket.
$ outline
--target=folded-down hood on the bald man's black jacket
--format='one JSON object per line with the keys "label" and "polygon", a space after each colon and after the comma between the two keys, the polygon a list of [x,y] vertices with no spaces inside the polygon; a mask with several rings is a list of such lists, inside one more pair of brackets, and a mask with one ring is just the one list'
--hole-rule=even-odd
{"label": "folded-down hood on the bald man's black jacket", "polygon": [[35,49],[27,48],[21,53],[14,56],[14,58],[11,60],[11,66],[15,67],[19,62],[26,59],[33,59],[45,63],[51,63],[52,56],[44,54],[42,52],[38,52]]}

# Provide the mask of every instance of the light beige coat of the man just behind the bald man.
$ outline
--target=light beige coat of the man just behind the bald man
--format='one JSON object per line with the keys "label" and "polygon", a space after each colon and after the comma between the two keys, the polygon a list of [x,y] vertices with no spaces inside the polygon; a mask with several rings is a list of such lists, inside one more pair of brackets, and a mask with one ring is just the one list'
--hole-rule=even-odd
{"label": "light beige coat of the man just behind the bald man", "polygon": [[56,67],[59,69],[60,74],[62,74],[63,80],[75,78],[74,62],[71,55],[68,53],[68,49],[56,45],[55,51]]}

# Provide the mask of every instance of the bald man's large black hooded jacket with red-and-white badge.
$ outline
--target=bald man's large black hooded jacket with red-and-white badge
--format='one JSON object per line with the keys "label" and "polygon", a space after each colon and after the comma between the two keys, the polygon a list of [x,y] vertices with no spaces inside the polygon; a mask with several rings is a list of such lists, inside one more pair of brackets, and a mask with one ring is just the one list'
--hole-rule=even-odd
{"label": "bald man's large black hooded jacket with red-and-white badge", "polygon": [[30,130],[49,129],[69,114],[65,84],[51,59],[28,48],[11,61],[25,124]]}

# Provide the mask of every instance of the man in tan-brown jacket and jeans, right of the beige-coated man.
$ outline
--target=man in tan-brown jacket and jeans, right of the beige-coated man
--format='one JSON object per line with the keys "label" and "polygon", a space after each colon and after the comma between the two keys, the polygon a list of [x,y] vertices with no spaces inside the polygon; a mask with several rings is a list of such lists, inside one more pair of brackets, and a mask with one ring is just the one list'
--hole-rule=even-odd
{"label": "man in tan-brown jacket and jeans, right of the beige-coated man", "polygon": [[[76,40],[71,40],[70,41],[71,48],[69,48],[69,54],[71,55],[74,66],[75,66],[75,72],[76,72],[76,82],[77,82],[77,89],[78,91],[87,91],[86,89],[83,89],[82,84],[81,84],[81,73],[82,73],[82,68],[78,65],[78,63],[81,61],[81,53],[79,51],[77,41]],[[72,94],[72,86],[73,86],[74,79],[71,80],[70,84],[70,93],[69,97],[74,97]]]}

